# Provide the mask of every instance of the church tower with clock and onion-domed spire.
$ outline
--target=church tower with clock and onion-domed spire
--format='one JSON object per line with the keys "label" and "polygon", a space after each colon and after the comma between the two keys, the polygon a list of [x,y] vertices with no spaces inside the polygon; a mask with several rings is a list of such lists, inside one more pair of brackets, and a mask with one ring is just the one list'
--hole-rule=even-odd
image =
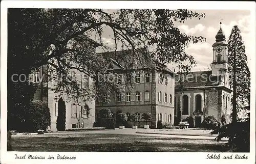
{"label": "church tower with clock and onion-domed spire", "polygon": [[213,61],[212,61],[212,75],[219,76],[221,83],[219,85],[229,87],[228,79],[228,44],[226,42],[225,35],[221,29],[215,36],[216,42],[212,45],[213,47]]}

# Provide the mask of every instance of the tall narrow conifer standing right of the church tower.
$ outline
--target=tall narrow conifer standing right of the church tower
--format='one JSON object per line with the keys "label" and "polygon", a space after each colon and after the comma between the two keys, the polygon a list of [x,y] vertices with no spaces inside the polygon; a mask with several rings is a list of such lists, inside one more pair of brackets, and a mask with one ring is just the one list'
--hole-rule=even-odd
{"label": "tall narrow conifer standing right of the church tower", "polygon": [[[247,66],[245,46],[241,31],[237,25],[233,26],[228,40],[228,64],[230,72],[230,87],[232,95],[232,121],[237,122],[237,113],[245,111],[250,104],[250,70]],[[247,113],[249,111],[246,111]]]}

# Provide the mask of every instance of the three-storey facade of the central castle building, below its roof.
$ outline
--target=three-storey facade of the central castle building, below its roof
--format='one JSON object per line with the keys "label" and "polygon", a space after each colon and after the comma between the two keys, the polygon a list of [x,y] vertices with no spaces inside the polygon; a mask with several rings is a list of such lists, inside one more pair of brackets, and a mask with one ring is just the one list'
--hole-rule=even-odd
{"label": "three-storey facade of the central castle building, below its roof", "polygon": [[[156,128],[157,121],[174,123],[174,72],[164,67],[161,70],[138,68],[125,69],[113,60],[113,72],[116,73],[115,83],[124,88],[120,95],[105,95],[110,102],[103,99],[96,101],[96,115],[103,108],[109,108],[112,113],[121,110],[127,115],[127,121],[132,125],[143,126],[143,113],[151,113],[151,127]],[[138,119],[131,121],[130,116],[136,114]]]}

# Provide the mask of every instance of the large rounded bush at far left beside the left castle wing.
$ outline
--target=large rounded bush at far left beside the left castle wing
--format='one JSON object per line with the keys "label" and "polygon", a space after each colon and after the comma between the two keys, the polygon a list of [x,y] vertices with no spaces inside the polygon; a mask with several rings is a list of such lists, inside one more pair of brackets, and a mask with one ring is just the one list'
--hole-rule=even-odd
{"label": "large rounded bush at far left beside the left castle wing", "polygon": [[49,107],[40,100],[33,100],[30,108],[24,111],[23,126],[19,132],[37,132],[38,129],[46,130],[51,124]]}

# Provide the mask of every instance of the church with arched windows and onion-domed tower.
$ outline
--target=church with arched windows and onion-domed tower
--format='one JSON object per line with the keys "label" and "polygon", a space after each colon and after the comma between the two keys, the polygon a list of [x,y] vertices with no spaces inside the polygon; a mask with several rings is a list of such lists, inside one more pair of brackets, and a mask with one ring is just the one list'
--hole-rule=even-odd
{"label": "church with arched windows and onion-domed tower", "polygon": [[[221,23],[220,23],[221,24]],[[182,75],[175,86],[175,118],[192,116],[200,127],[207,116],[214,115],[230,120],[231,92],[228,79],[228,44],[220,27],[212,45],[212,70]],[[177,80],[178,81],[178,80]]]}

